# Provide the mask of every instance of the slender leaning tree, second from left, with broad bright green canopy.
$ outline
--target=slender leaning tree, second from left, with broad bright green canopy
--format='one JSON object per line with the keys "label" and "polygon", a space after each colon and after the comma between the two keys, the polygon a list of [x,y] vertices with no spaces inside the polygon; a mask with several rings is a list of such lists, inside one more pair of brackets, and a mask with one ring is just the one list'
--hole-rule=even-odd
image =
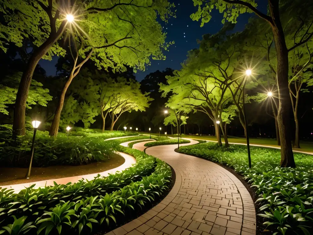
{"label": "slender leaning tree, second from left, with broad bright green canopy", "polygon": [[[116,5],[120,3],[115,2]],[[155,2],[150,6],[142,5],[142,3],[139,5],[132,2],[121,3],[111,10],[105,8],[106,6],[106,1],[90,3],[87,6],[89,14],[77,23],[82,32],[77,31],[74,39],[78,41],[80,49],[73,58],[74,65],[61,92],[50,135],[57,135],[66,90],[89,58],[99,69],[108,70],[110,67],[113,71],[125,71],[126,65],[134,68],[135,71],[144,70],[145,64],[150,63],[151,56],[153,59],[164,59],[160,48],[167,49],[165,34],[162,33],[162,28],[156,18],[157,12],[170,13],[168,4],[159,5]],[[161,18],[163,17],[165,16],[162,15]],[[88,32],[88,40],[84,32]],[[85,52],[88,55],[85,55]],[[79,55],[84,58],[80,63],[77,62]]]}

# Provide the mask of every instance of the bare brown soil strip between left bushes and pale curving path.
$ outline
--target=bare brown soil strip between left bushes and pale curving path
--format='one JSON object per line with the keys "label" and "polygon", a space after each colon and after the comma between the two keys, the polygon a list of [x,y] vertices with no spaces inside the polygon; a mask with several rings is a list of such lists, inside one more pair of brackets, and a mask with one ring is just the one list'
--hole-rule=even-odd
{"label": "bare brown soil strip between left bushes and pale curving path", "polygon": [[93,162],[79,166],[48,166],[32,167],[31,178],[26,179],[27,168],[0,167],[0,185],[30,183],[41,180],[59,179],[78,175],[88,175],[114,169],[125,162],[125,159],[115,154],[110,160]]}

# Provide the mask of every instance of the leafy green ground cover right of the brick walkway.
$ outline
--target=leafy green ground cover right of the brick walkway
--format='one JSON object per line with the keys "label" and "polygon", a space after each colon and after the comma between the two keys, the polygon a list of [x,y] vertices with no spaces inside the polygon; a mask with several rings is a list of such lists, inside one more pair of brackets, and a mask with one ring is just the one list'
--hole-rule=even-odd
{"label": "leafy green ground cover right of the brick walkway", "polygon": [[267,219],[264,225],[273,234],[312,234],[313,156],[295,153],[297,168],[281,168],[279,149],[250,149],[251,169],[245,146],[223,148],[208,142],[183,146],[178,151],[229,165],[244,175],[259,196],[258,216]]}

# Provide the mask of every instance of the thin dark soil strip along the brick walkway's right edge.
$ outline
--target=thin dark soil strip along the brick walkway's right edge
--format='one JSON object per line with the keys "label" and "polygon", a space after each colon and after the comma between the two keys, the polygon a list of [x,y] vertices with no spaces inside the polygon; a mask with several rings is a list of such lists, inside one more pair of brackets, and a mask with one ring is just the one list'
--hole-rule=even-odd
{"label": "thin dark soil strip along the brick walkway's right edge", "polygon": [[[175,152],[179,153],[177,151],[177,149],[175,149]],[[186,154],[186,153],[183,153],[183,154]],[[186,155],[190,155],[190,156],[193,156],[193,157],[198,157],[198,158],[202,158],[204,160],[210,161],[209,159],[206,159],[204,157],[194,156],[194,155],[191,155],[191,154],[186,154]],[[222,164],[222,163],[219,163],[219,162],[214,162],[214,163],[219,165],[219,166],[221,166],[221,167],[223,167],[224,169],[228,170],[230,173],[232,173],[234,176],[236,176],[241,181],[241,183],[248,190],[248,192],[249,192],[249,194],[250,194],[250,196],[251,196],[251,198],[252,198],[252,200],[254,202],[254,207],[255,207],[256,214],[262,213],[262,212],[259,211],[259,207],[262,206],[262,205],[255,204],[255,201],[258,199],[258,195],[256,194],[256,190],[254,188],[251,188],[251,184],[248,183],[244,179],[244,176],[238,174],[232,167],[230,167],[228,165],[225,165],[225,164]],[[263,225],[263,223],[265,221],[266,221],[266,218],[260,217],[260,216],[256,216],[256,235],[270,235],[270,234],[273,234],[273,232],[267,230],[266,226]]]}

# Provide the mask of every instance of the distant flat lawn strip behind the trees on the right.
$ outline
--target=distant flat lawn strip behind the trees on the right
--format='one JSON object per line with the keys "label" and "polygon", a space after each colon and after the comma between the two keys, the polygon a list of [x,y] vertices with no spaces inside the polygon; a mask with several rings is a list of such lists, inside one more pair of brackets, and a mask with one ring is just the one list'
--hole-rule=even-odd
{"label": "distant flat lawn strip behind the trees on the right", "polygon": [[[147,133],[141,133],[141,134],[147,134]],[[151,133],[151,135],[158,135],[159,133]],[[161,136],[170,136],[177,138],[177,135],[164,135],[161,134]],[[184,135],[182,134],[182,138],[190,138],[190,139],[203,139],[203,140],[211,140],[211,141],[216,141],[215,136],[208,136],[208,135]],[[269,138],[249,138],[250,144],[260,144],[260,145],[269,145],[273,147],[280,147],[277,145],[277,142],[275,139],[269,139]],[[223,142],[223,137],[222,137],[222,142]],[[242,137],[228,137],[228,142],[229,143],[239,143],[239,144],[246,144],[246,138]],[[295,149],[298,151],[303,151],[303,152],[313,152],[313,142],[309,141],[300,141],[300,147],[301,149]]]}

